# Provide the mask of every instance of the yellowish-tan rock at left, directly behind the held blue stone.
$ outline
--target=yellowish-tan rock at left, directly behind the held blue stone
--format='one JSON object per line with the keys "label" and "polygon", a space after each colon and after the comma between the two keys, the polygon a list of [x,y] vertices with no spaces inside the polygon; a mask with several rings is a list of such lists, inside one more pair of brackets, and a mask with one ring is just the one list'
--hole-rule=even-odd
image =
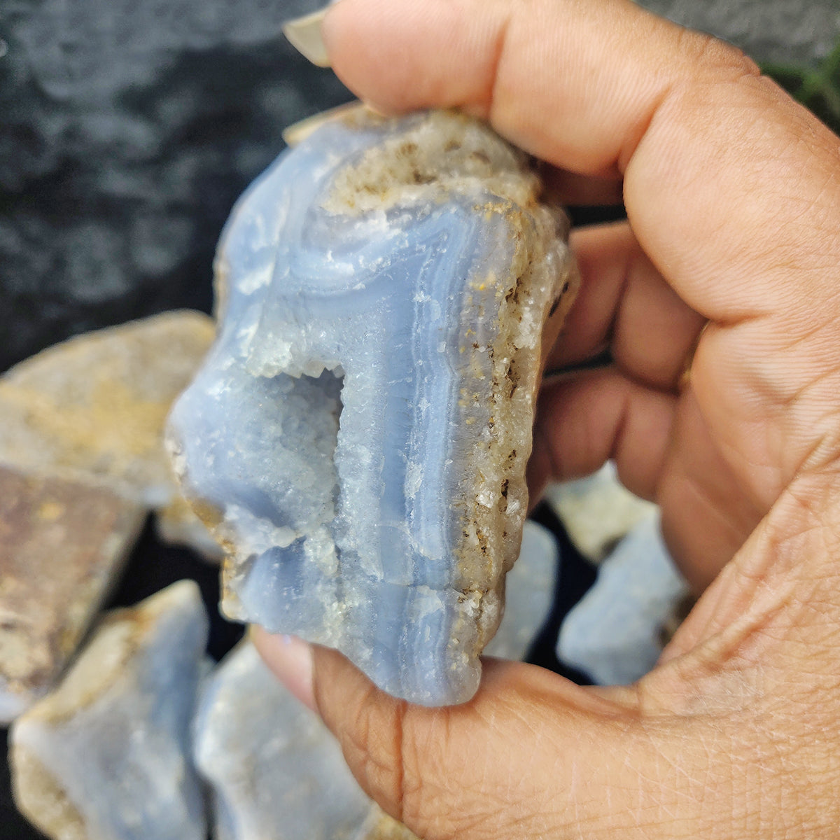
{"label": "yellowish-tan rock at left, directly behind the held blue stone", "polygon": [[162,508],[165,537],[218,555],[181,500],[163,447],[166,414],[214,334],[201,312],[166,312],[21,362],[0,377],[0,464]]}

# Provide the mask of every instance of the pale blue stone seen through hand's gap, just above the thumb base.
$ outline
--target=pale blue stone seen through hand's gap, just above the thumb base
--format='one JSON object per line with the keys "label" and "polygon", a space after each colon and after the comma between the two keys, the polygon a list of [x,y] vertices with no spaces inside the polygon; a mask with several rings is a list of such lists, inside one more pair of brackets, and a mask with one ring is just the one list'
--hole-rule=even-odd
{"label": "pale blue stone seen through hand's gap, just above the thumb base", "polygon": [[601,564],[590,591],[565,617],[557,643],[560,661],[601,685],[627,685],[654,667],[663,630],[688,585],[676,570],[648,516]]}

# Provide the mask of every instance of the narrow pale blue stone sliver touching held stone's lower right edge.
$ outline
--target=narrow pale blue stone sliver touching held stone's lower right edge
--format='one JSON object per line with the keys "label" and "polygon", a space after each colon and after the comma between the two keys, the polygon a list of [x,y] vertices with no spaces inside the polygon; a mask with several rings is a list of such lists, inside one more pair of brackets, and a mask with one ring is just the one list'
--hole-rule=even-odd
{"label": "narrow pale blue stone sliver touching held stone's lower right edge", "polygon": [[486,656],[525,659],[554,603],[559,552],[554,535],[528,519],[522,528],[519,559],[505,580],[505,614]]}

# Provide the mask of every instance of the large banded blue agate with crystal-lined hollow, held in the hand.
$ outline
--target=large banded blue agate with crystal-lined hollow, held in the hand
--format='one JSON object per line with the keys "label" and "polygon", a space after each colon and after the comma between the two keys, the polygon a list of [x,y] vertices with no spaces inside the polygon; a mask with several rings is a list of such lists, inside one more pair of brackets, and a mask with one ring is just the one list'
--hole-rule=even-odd
{"label": "large banded blue agate with crystal-lined hollow, held in the hand", "polygon": [[543,323],[577,282],[540,190],[482,123],[360,109],[239,201],[170,442],[228,553],[228,617],[409,701],[473,695],[528,507]]}

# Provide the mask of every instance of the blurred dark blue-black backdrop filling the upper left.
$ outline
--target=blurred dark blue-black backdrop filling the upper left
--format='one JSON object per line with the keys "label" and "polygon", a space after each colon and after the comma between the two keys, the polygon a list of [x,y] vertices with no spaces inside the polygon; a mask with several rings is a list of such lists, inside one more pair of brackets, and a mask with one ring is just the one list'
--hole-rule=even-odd
{"label": "blurred dark blue-black backdrop filling the upper left", "polygon": [[12,0],[0,12],[0,370],[209,308],[213,248],[281,129],[349,98],[281,34],[317,0]]}

